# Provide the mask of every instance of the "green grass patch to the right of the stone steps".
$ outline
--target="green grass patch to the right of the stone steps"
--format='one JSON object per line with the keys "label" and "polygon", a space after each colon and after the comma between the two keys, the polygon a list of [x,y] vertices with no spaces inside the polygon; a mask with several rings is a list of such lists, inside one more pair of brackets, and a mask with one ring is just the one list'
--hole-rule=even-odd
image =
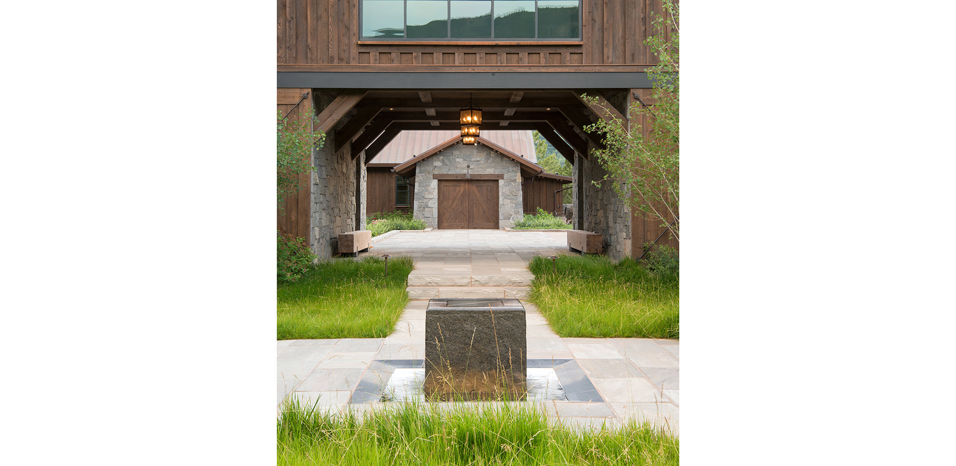
{"label": "green grass patch to the right of the stone steps", "polygon": [[562,337],[680,338],[680,279],[631,259],[532,259],[531,301]]}

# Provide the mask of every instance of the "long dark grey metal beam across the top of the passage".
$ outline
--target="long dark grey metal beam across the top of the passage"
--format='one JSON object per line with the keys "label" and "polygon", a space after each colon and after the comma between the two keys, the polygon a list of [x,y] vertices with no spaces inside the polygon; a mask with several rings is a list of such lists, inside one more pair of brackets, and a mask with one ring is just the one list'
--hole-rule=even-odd
{"label": "long dark grey metal beam across the top of the passage", "polygon": [[326,89],[632,89],[649,88],[643,72],[378,73],[276,72],[280,88]]}

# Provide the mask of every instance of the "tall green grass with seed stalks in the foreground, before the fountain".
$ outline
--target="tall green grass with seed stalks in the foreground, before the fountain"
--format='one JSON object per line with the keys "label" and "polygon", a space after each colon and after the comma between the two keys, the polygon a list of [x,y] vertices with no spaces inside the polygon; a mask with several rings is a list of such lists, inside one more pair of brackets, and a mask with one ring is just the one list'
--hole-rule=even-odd
{"label": "tall green grass with seed stalks in the foreground, before the fountain", "polygon": [[586,431],[549,425],[533,405],[399,404],[359,416],[296,401],[277,426],[285,465],[676,465],[677,437],[631,421]]}

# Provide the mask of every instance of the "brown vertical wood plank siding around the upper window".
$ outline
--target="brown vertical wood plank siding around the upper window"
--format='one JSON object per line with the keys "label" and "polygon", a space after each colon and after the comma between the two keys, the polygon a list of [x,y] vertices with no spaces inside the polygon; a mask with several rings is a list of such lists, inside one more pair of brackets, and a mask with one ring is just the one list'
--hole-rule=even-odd
{"label": "brown vertical wood plank siding around the upper window", "polygon": [[278,64],[650,64],[661,0],[583,0],[581,45],[359,45],[361,0],[276,0]]}

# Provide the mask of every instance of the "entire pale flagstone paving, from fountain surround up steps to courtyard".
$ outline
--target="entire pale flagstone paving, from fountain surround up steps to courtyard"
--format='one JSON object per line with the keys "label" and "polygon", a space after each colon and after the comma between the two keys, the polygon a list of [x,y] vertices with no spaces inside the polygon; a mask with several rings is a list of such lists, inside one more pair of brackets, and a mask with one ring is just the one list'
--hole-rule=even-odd
{"label": "entire pale flagstone paving, from fountain surround up steps to courtyard", "polygon": [[[415,263],[409,275],[411,301],[395,331],[386,338],[277,342],[277,401],[295,396],[317,401],[323,410],[357,412],[387,405],[369,396],[368,382],[372,374],[381,373],[380,361],[424,359],[425,298],[523,299],[525,295],[515,290],[531,285],[528,262],[534,256],[567,250],[564,232],[432,230],[400,232],[376,242],[359,258],[404,255]],[[440,290],[447,294],[439,295]],[[555,372],[566,391],[592,400],[535,402],[544,405],[549,418],[587,427],[617,426],[640,418],[679,432],[678,341],[561,338],[534,305],[524,300],[522,304],[527,311],[528,359],[560,364]]]}

